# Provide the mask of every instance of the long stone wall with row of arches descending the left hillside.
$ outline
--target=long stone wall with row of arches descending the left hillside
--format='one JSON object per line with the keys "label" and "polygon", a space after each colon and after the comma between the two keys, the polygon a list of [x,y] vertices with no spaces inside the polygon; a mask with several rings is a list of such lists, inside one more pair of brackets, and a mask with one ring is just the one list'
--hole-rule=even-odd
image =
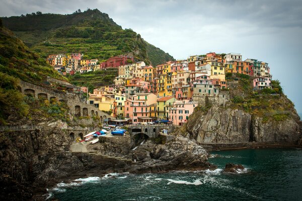
{"label": "long stone wall with row of arches descending the left hillside", "polygon": [[20,81],[19,90],[26,94],[32,95],[35,98],[43,98],[43,99],[57,99],[59,102],[64,102],[70,109],[70,113],[77,117],[94,117],[97,116],[100,120],[104,119],[112,119],[115,120],[114,117],[100,111],[98,108],[94,106],[83,103],[78,95],[65,95],[56,93],[52,90],[25,82]]}

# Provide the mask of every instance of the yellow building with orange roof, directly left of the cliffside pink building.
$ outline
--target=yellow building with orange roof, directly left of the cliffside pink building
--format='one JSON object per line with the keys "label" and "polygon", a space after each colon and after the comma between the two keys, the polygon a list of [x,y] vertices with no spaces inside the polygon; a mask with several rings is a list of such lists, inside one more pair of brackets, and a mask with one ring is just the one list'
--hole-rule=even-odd
{"label": "yellow building with orange roof, directly left of the cliffside pink building", "polygon": [[157,100],[158,120],[169,120],[169,107],[172,107],[175,101],[175,97],[161,97]]}

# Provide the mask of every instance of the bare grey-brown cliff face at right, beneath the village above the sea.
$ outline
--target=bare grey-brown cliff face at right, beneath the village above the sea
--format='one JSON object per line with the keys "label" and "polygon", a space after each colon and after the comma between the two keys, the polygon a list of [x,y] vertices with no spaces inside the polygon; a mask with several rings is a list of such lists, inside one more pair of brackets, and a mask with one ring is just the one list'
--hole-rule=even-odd
{"label": "bare grey-brown cliff face at right, beneath the village above the sea", "polygon": [[201,143],[298,142],[300,136],[294,113],[277,121],[217,106],[203,115],[195,111],[186,127],[190,136]]}

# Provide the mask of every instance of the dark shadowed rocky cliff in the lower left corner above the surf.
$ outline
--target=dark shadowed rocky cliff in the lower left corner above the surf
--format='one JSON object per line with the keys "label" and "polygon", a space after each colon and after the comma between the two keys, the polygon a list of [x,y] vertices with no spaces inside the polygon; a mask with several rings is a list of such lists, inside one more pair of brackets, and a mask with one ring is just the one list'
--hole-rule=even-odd
{"label": "dark shadowed rocky cliff in the lower left corner above the surf", "polygon": [[[65,152],[69,149],[68,135],[57,127],[0,135],[2,200],[30,198],[35,193],[32,186],[43,192],[46,182],[51,184],[56,178],[83,168],[77,157]],[[18,184],[19,189],[10,192],[10,183]]]}

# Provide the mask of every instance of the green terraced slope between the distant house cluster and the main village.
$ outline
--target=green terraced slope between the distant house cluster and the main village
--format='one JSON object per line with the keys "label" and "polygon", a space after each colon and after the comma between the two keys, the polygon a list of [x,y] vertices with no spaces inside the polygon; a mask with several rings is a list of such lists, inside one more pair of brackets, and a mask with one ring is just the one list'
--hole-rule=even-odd
{"label": "green terraced slope between the distant house cluster and the main village", "polygon": [[114,78],[118,75],[118,69],[107,68],[106,70],[97,70],[86,73],[75,73],[69,75],[68,79],[74,85],[87,86],[90,92],[99,86],[113,84]]}

